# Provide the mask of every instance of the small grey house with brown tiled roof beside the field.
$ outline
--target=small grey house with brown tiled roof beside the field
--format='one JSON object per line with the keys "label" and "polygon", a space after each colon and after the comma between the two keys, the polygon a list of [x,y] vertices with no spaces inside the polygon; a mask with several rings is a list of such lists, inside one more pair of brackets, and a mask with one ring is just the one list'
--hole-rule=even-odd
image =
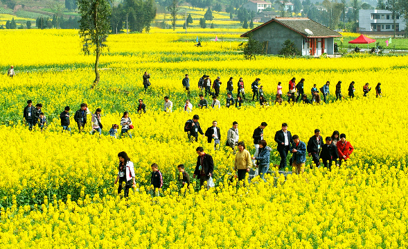
{"label": "small grey house with brown tiled roof beside the field", "polygon": [[268,54],[278,54],[283,42],[291,40],[302,55],[332,55],[335,37],[342,36],[308,17],[276,17],[241,37],[248,37],[249,33],[255,40],[265,42]]}

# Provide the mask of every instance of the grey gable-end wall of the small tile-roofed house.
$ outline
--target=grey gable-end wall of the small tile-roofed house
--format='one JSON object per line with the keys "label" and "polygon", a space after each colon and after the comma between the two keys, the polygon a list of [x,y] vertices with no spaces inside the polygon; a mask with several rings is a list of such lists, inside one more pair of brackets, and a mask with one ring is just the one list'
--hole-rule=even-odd
{"label": "grey gable-end wall of the small tile-roofed house", "polygon": [[267,53],[278,54],[282,49],[283,42],[289,39],[296,45],[297,49],[302,50],[303,37],[289,28],[285,28],[281,24],[272,22],[253,31],[254,39],[259,42],[268,42]]}

